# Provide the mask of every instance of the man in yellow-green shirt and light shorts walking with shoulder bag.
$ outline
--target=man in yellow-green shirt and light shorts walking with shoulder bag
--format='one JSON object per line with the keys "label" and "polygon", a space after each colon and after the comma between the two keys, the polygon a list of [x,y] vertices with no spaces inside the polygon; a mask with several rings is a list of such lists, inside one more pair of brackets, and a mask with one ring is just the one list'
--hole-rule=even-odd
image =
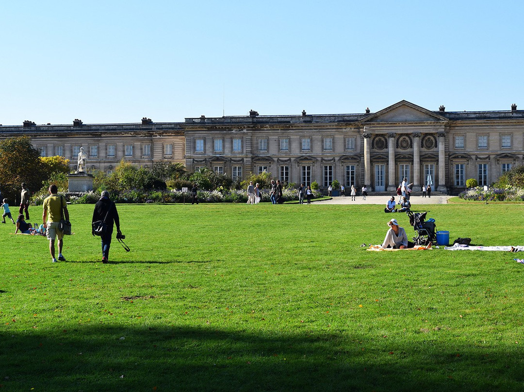
{"label": "man in yellow-green shirt and light shorts walking with shoulder bag", "polygon": [[63,216],[66,221],[69,221],[69,211],[67,210],[67,203],[65,198],[58,194],[58,187],[51,185],[49,187],[49,196],[43,201],[42,221],[46,225],[46,236],[49,239],[49,252],[53,258],[53,263],[57,262],[54,257],[54,241],[58,238],[58,260],[65,262],[65,257],[62,256],[63,236],[64,233],[58,229],[58,224]]}

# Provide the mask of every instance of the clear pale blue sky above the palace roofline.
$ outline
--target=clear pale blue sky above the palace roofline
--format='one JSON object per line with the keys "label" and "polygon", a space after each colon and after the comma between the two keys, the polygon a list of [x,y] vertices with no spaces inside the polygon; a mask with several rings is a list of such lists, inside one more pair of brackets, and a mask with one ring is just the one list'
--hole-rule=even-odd
{"label": "clear pale blue sky above the palace roofline", "polygon": [[524,109],[515,1],[4,1],[0,124]]}

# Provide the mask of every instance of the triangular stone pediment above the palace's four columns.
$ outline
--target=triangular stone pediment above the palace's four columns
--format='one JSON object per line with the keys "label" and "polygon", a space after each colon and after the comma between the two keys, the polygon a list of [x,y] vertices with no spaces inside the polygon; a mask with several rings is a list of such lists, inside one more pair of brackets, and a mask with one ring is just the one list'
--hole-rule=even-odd
{"label": "triangular stone pediment above the palace's four columns", "polygon": [[364,124],[427,122],[447,122],[447,118],[408,101],[397,102],[361,120]]}

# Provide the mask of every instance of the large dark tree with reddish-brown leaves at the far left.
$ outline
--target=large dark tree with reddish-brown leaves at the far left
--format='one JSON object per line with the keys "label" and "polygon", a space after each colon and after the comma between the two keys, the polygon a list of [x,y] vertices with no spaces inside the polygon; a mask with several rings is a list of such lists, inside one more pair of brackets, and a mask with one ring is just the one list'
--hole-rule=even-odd
{"label": "large dark tree with reddish-brown leaves at the far left", "polygon": [[10,137],[0,141],[0,181],[3,198],[9,204],[20,201],[21,183],[34,192],[46,179],[46,168],[40,160],[40,153],[31,145],[28,136]]}

